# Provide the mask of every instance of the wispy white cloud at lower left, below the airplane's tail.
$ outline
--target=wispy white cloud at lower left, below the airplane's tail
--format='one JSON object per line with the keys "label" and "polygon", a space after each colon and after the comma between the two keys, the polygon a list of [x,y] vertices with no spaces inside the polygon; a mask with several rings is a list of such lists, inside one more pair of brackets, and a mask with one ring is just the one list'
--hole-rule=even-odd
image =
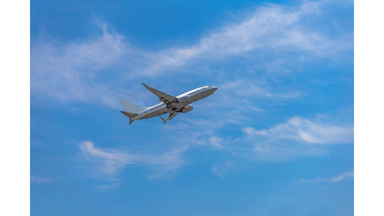
{"label": "wispy white cloud at lower left, below the airplane's tail", "polygon": [[187,149],[188,146],[179,147],[160,155],[152,155],[147,153],[129,153],[126,150],[118,150],[111,148],[95,147],[91,141],[82,141],[80,149],[83,155],[95,161],[98,170],[102,174],[115,176],[127,164],[144,165],[154,169],[149,174],[150,178],[164,178],[171,176],[175,169],[182,164],[180,154]]}

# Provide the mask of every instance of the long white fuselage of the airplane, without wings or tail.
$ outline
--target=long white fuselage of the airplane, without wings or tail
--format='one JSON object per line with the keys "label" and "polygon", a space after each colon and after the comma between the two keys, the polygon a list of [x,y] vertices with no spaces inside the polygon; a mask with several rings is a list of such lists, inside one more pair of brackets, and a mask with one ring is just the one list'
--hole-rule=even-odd
{"label": "long white fuselage of the airplane, without wings or tail", "polygon": [[[178,101],[172,103],[172,107],[167,108],[167,105],[164,104],[163,102],[160,102],[154,106],[148,107],[139,113],[137,113],[136,116],[130,118],[132,120],[138,120],[138,119],[145,119],[145,118],[151,118],[151,117],[157,117],[175,110],[180,110],[186,105],[197,101],[199,99],[202,99],[206,96],[209,96],[212,94],[217,87],[214,86],[204,86],[204,87],[199,87],[196,89],[193,89],[191,91],[188,91],[186,93],[180,94],[176,96],[177,98],[181,98],[185,95],[189,96],[189,98],[186,98],[183,102],[179,103]],[[169,107],[169,105],[168,105]]]}

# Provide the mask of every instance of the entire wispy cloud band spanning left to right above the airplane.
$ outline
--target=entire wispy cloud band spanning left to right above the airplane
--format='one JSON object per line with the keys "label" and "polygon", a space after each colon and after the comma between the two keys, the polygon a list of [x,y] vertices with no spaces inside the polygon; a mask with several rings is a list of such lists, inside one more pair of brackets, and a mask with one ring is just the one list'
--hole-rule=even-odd
{"label": "entire wispy cloud band spanning left to right above the airplane", "polygon": [[[304,1],[299,6],[265,4],[240,21],[206,32],[195,44],[178,44],[159,51],[135,47],[124,36],[108,32],[106,24],[101,25],[101,35],[83,41],[59,44],[42,37],[39,43],[31,45],[31,96],[97,101],[116,108],[118,99],[127,95],[120,89],[138,77],[155,77],[165,71],[168,75],[180,73],[185,67],[209,67],[209,62],[232,57],[242,57],[269,72],[286,70],[285,64],[298,63],[309,56],[334,58],[353,50],[353,32],[331,37],[306,23],[308,19],[323,19],[324,7],[329,4],[333,2]],[[269,88],[254,87],[252,91],[266,98],[301,95],[293,89],[281,92]]]}

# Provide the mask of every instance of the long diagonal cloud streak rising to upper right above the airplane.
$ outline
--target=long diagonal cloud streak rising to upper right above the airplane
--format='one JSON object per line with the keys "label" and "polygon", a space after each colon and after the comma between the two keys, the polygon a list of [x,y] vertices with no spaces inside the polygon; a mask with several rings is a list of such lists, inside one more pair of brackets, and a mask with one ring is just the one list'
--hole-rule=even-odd
{"label": "long diagonal cloud streak rising to upper right above the airplane", "polygon": [[[195,58],[211,59],[242,55],[251,51],[270,53],[294,51],[316,56],[334,56],[340,51],[352,50],[353,35],[334,40],[321,31],[310,30],[303,24],[309,17],[321,16],[323,6],[330,1],[303,1],[299,7],[267,4],[256,8],[240,22],[228,23],[212,30],[197,44],[170,48],[149,54],[153,62],[146,74],[172,69]],[[348,40],[348,41],[345,41]],[[281,60],[281,59],[280,59]]]}

